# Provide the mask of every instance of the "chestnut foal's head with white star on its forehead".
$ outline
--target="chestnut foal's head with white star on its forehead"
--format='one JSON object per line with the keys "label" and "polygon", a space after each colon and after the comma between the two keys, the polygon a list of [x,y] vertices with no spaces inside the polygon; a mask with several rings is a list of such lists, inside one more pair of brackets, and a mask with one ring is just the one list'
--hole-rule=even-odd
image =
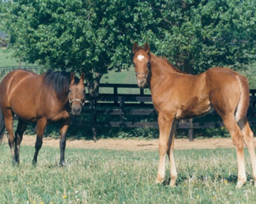
{"label": "chestnut foal's head with white star on its forehead", "polygon": [[150,53],[148,42],[144,47],[140,47],[135,42],[132,47],[132,53],[134,54],[133,63],[135,67],[137,84],[140,88],[144,88],[147,84],[148,73],[150,71]]}

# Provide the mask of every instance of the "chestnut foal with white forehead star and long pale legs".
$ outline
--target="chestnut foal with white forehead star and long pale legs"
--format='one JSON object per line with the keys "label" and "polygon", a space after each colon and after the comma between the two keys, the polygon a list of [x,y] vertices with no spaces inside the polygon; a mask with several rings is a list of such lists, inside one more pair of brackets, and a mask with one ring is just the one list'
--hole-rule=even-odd
{"label": "chestnut foal with white forehead star and long pale legs", "polygon": [[236,187],[240,188],[247,181],[244,143],[250,153],[256,187],[253,132],[247,122],[249,85],[246,77],[229,68],[221,67],[210,68],[198,75],[183,73],[174,68],[166,58],[152,54],[147,42],[144,47],[134,43],[132,52],[137,84],[140,88],[148,85],[154,108],[158,112],[160,137],[156,183],[162,183],[164,180],[167,153],[170,162],[170,186],[175,187],[177,170],[173,149],[177,120],[202,116],[215,110],[229,130],[236,146]]}

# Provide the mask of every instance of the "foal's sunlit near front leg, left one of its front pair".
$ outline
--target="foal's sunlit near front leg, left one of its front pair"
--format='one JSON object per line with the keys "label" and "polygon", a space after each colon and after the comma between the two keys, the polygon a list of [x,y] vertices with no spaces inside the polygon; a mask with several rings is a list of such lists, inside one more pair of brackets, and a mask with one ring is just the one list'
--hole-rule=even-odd
{"label": "foal's sunlit near front leg, left one of its front pair", "polygon": [[174,116],[167,116],[164,113],[159,113],[158,115],[158,125],[159,125],[159,164],[157,171],[156,183],[162,183],[165,176],[165,159],[166,152],[169,147],[169,136],[171,132],[172,122],[174,121]]}

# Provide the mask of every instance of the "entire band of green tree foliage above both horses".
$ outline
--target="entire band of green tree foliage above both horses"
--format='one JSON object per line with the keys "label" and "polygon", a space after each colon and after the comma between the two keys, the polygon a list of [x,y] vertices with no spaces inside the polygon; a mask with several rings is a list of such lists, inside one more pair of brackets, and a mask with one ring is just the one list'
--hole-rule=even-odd
{"label": "entire band of green tree foliage above both horses", "polygon": [[1,23],[14,56],[85,71],[90,80],[129,68],[134,41],[148,41],[155,54],[189,73],[239,68],[255,58],[255,0],[13,2],[2,3]]}

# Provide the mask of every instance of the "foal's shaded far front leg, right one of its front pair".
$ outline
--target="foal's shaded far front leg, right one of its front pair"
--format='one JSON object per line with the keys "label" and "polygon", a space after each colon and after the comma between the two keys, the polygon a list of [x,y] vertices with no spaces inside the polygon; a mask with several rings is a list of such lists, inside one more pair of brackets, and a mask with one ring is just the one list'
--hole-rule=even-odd
{"label": "foal's shaded far front leg, right one of its front pair", "polygon": [[175,137],[176,127],[177,127],[177,121],[175,120],[172,123],[172,130],[171,130],[171,133],[170,133],[168,150],[167,150],[167,155],[169,157],[169,162],[170,162],[170,175],[171,175],[170,186],[171,187],[175,187],[176,180],[177,180],[177,177],[178,177],[178,173],[177,173],[176,166],[175,166],[174,154],[173,154],[174,137]]}

